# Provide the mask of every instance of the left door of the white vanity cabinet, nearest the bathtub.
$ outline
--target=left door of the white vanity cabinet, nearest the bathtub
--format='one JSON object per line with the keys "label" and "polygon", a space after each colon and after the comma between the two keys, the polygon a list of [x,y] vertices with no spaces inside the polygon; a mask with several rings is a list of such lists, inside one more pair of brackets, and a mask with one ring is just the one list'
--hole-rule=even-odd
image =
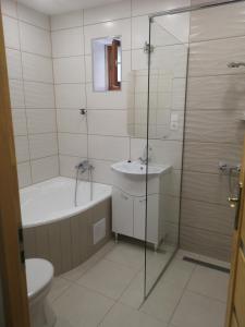
{"label": "left door of the white vanity cabinet, nearest the bathtub", "polygon": [[134,201],[121,190],[112,192],[112,231],[133,237],[134,234]]}

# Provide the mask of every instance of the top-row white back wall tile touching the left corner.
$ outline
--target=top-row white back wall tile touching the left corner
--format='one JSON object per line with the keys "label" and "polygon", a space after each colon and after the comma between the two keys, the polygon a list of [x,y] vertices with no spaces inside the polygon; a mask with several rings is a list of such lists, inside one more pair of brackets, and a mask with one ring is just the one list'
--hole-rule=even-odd
{"label": "top-row white back wall tile touching the left corner", "polygon": [[81,26],[83,26],[82,10],[51,16],[51,31],[81,27]]}

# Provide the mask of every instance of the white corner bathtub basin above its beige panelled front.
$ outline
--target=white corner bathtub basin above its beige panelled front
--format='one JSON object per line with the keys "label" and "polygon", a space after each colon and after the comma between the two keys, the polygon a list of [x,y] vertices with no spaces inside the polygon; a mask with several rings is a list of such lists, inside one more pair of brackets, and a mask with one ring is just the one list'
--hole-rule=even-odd
{"label": "white corner bathtub basin above its beige panelled front", "polygon": [[90,183],[79,181],[77,207],[74,205],[74,194],[75,180],[62,177],[22,189],[20,196],[23,227],[37,227],[78,215],[109,198],[111,186],[93,183],[90,201]]}

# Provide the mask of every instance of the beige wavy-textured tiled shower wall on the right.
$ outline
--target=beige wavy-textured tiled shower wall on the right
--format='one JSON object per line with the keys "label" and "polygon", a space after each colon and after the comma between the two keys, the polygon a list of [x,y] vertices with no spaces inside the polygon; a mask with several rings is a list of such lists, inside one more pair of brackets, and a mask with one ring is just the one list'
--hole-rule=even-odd
{"label": "beige wavy-textured tiled shower wall on the right", "polygon": [[[197,1],[194,1],[196,3]],[[240,162],[245,123],[245,3],[193,12],[181,245],[228,259],[234,209],[219,160]]]}

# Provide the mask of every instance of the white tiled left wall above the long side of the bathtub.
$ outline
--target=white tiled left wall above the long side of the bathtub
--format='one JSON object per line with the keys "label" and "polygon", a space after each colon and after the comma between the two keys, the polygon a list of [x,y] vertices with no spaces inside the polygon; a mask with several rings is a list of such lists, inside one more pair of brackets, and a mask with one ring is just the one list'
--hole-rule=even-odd
{"label": "white tiled left wall above the long side of the bathtub", "polygon": [[20,187],[59,174],[50,20],[2,0]]}

